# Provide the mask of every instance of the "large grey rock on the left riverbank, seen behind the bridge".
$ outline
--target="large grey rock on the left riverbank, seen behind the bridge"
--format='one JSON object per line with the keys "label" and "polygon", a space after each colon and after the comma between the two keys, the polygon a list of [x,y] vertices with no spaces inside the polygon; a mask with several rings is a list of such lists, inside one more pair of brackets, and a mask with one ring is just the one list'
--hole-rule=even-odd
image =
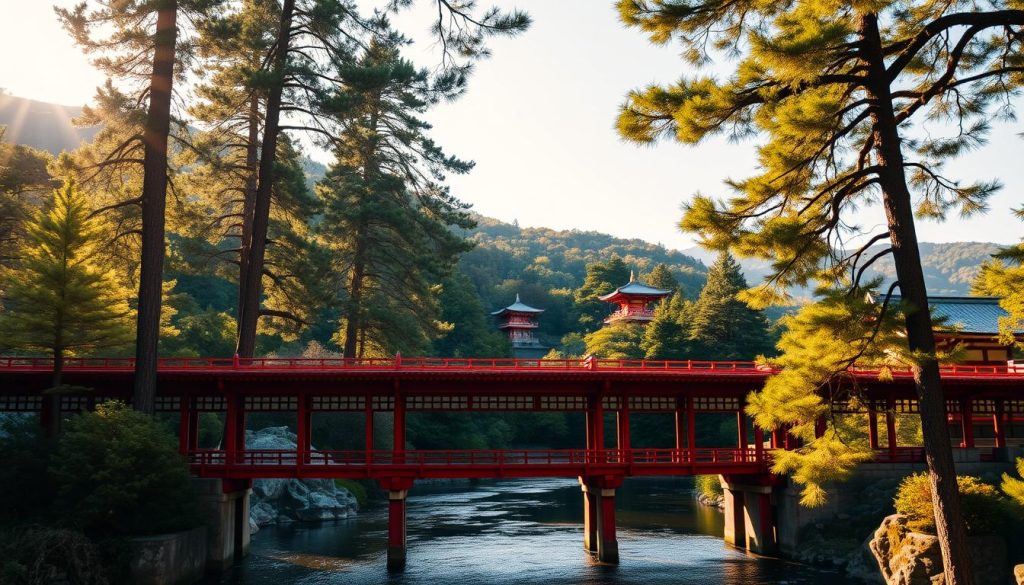
{"label": "large grey rock on the left riverbank, seen behind the bridge", "polygon": [[[246,447],[294,451],[296,438],[287,426],[247,430]],[[256,479],[249,504],[252,532],[274,523],[347,518],[358,510],[355,497],[331,479]]]}

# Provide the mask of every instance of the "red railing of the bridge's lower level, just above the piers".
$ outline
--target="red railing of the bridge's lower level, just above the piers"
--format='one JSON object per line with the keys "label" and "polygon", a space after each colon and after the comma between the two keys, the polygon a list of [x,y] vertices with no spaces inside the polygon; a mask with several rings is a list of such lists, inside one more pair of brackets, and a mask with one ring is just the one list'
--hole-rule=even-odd
{"label": "red railing of the bridge's lower level, just above the piers", "polygon": [[187,454],[198,467],[302,466],[544,466],[544,465],[700,465],[748,464],[767,461],[768,453],[754,449],[510,449],[431,451],[311,451],[246,450],[229,454],[198,450]]}

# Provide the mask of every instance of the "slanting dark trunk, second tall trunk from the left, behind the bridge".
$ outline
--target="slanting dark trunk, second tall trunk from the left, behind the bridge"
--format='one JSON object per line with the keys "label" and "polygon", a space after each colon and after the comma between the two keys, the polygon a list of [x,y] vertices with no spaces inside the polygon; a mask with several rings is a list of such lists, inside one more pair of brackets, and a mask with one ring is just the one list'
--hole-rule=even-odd
{"label": "slanting dark trunk, second tall trunk from the left, behind the bridge", "polygon": [[273,59],[273,86],[266,99],[266,119],[263,122],[263,142],[259,162],[259,184],[253,202],[252,245],[249,265],[243,283],[245,298],[239,306],[239,344],[241,358],[252,358],[256,350],[256,324],[259,321],[262,296],[263,257],[266,254],[266,233],[270,222],[270,195],[273,186],[273,164],[278,155],[278,135],[281,133],[281,95],[287,75],[289,41],[292,34],[292,14],[295,0],[285,0],[281,9],[281,29],[278,31],[276,52]]}

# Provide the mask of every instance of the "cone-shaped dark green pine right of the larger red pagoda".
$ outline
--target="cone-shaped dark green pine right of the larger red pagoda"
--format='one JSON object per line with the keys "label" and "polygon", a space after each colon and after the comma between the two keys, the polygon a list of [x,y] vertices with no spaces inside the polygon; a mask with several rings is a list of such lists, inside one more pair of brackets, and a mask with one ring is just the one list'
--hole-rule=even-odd
{"label": "cone-shaped dark green pine right of the larger red pagoda", "polygon": [[771,351],[764,315],[737,297],[746,288],[739,263],[730,254],[721,254],[693,305],[693,359],[753,360]]}

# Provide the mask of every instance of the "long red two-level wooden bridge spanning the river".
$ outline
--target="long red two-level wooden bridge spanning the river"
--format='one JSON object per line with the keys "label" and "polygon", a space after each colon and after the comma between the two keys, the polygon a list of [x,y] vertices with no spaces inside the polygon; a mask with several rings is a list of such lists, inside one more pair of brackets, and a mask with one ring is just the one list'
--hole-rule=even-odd
{"label": "long red two-level wooden bridge spanning the river", "polygon": [[[59,416],[54,411],[78,411],[105,400],[130,398],[131,359],[68,360],[65,382],[93,391],[61,396],[59,405],[42,394],[50,385],[51,369],[46,359],[0,358],[0,411],[39,412],[45,421]],[[586,544],[602,560],[615,561],[614,490],[625,477],[707,473],[738,477],[744,484],[771,484],[770,451],[794,448],[796,440],[782,430],[766,436],[750,424],[742,408],[744,396],[772,374],[751,362],[162,359],[157,408],[179,416],[181,451],[194,472],[223,479],[225,491],[247,488],[259,477],[378,480],[391,498],[390,566],[400,566],[404,559],[407,491],[416,479],[441,477],[579,477],[586,500]],[[900,448],[895,432],[898,414],[916,412],[912,373],[892,371],[885,380],[877,370],[849,374],[866,399],[878,460],[919,460],[921,450]],[[997,458],[1000,449],[1024,438],[1024,369],[946,366],[942,376],[955,447],[980,448],[987,451],[981,457]],[[839,410],[843,411],[842,404]],[[416,411],[584,412],[586,448],[408,450],[406,415]],[[217,449],[200,449],[202,412],[223,413],[224,440]],[[255,412],[295,413],[297,449],[247,449],[246,415]],[[330,412],[362,413],[364,449],[313,450],[312,417]],[[374,445],[374,413],[380,412],[393,417],[393,437],[387,446]],[[673,413],[675,445],[633,449],[631,413]],[[709,413],[735,416],[734,446],[696,445],[695,419]],[[615,419],[614,437],[604,435],[607,416]],[[885,430],[885,449],[880,426]],[[766,500],[759,505],[770,532],[770,504]],[[760,548],[769,551],[771,546]]]}

